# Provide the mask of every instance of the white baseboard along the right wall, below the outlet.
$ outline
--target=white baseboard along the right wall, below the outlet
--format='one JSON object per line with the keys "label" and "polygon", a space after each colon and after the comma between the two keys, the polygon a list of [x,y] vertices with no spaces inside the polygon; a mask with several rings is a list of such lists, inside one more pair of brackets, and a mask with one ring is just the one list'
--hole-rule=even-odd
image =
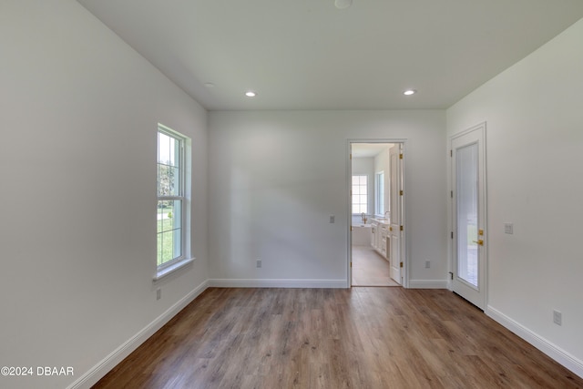
{"label": "white baseboard along the right wall, below the outlet", "polygon": [[546,353],[549,357],[557,361],[557,363],[562,364],[568,370],[583,378],[583,361],[578,360],[575,356],[561,349],[557,344],[548,342],[547,339],[537,333],[533,333],[524,325],[509,318],[506,314],[497,311],[496,308],[488,305],[485,313],[511,332],[516,333],[519,337],[537,347],[541,352]]}

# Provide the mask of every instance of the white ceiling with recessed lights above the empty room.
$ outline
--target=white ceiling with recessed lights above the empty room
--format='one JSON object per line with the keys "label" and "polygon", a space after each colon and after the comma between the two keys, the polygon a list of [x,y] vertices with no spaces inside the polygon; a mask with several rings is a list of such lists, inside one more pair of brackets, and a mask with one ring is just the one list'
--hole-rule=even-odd
{"label": "white ceiling with recessed lights above the empty room", "polygon": [[210,110],[446,108],[583,17],[583,0],[78,1]]}

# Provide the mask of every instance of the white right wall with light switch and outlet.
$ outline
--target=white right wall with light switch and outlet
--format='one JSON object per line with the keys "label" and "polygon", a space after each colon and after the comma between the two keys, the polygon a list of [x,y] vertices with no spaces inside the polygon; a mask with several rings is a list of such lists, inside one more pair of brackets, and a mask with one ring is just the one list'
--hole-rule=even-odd
{"label": "white right wall with light switch and outlet", "polygon": [[583,20],[448,109],[447,132],[486,121],[488,314],[583,376],[581,42]]}

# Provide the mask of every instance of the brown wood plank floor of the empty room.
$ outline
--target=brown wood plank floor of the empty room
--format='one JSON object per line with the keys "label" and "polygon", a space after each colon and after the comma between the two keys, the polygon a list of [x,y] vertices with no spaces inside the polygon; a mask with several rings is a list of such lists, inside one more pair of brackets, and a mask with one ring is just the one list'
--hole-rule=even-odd
{"label": "brown wood plank floor of the empty room", "polygon": [[583,388],[445,290],[210,288],[95,388]]}

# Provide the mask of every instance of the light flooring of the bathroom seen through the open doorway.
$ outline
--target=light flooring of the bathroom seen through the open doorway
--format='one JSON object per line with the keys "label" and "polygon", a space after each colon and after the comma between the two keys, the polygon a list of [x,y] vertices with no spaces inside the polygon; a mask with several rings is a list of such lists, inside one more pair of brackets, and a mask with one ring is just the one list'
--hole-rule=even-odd
{"label": "light flooring of the bathroom seen through the open doorway", "polygon": [[399,286],[391,265],[372,246],[353,246],[353,286]]}

